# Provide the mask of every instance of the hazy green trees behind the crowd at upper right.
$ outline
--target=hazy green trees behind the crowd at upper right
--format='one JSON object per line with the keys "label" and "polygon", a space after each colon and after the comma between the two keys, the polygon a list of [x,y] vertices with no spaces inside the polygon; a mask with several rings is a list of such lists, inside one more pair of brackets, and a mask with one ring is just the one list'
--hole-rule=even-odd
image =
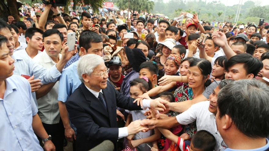
{"label": "hazy green trees behind the crowd at upper right", "polygon": [[[233,6],[225,6],[224,3],[226,2],[220,2],[220,1],[212,1],[212,2],[205,2],[205,0],[192,0],[192,1],[186,1],[186,0],[154,0],[155,6],[152,13],[162,13],[168,16],[169,18],[178,17],[179,14],[183,11],[189,11],[191,13],[196,12],[199,14],[200,20],[205,21],[212,21],[213,19],[217,21],[222,22],[223,20],[229,21],[230,16],[230,22],[234,22],[235,15],[238,8],[238,3]],[[239,14],[239,20],[243,21],[244,23],[247,23],[245,21],[249,20],[246,19],[247,16],[252,17],[261,17],[265,18],[265,21],[269,20],[269,6],[257,6],[260,9],[261,12],[265,15],[257,16],[256,14],[259,13],[253,13],[253,9],[255,8],[255,3],[252,1],[246,1],[242,6]],[[224,11],[226,8],[226,13],[224,16]],[[252,13],[250,13],[252,12]],[[254,11],[255,12],[255,11]],[[266,15],[267,14],[267,15]],[[229,16],[228,16],[229,15]],[[254,19],[255,20],[255,19]],[[255,21],[254,21],[255,22]],[[257,22],[257,21],[256,21]],[[268,21],[267,21],[268,22]]]}

